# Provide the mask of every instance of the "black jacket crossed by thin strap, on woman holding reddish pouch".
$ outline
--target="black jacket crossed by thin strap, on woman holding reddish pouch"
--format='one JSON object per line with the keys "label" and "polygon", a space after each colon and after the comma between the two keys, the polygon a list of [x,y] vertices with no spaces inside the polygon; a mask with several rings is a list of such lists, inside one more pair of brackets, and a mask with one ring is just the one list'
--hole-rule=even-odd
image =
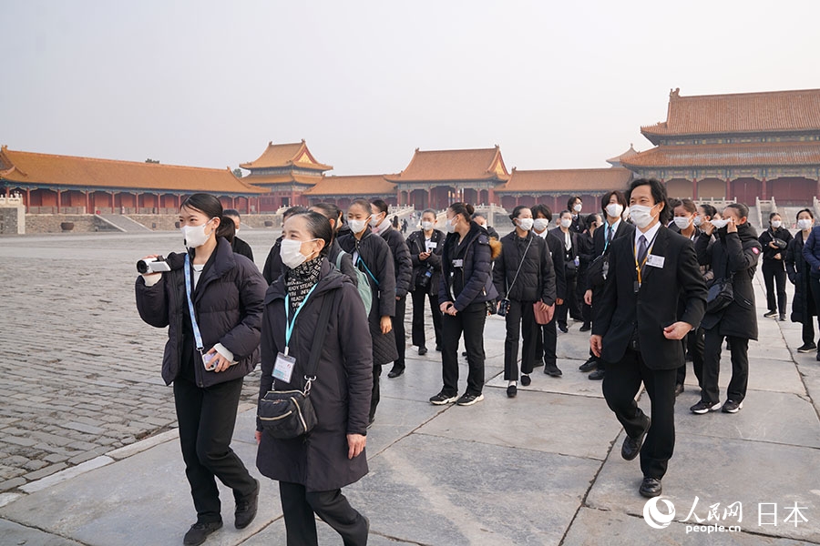
{"label": "black jacket crossed by thin strap, on woman holding reddish pouch", "polygon": [[499,298],[540,300],[552,305],[556,297],[555,282],[552,257],[543,238],[533,235],[532,231],[528,231],[526,238],[519,238],[516,231],[501,238],[501,257],[493,266],[493,283]]}

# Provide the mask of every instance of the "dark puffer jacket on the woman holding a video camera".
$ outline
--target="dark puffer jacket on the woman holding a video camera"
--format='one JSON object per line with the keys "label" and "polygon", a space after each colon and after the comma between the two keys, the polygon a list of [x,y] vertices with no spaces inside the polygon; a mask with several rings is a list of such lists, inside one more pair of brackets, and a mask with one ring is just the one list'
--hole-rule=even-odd
{"label": "dark puffer jacket on the woman holding a video camera", "polygon": [[[139,276],[136,293],[139,317],[151,326],[169,327],[162,357],[162,379],[169,385],[179,377],[183,365],[183,320],[187,320],[188,299],[185,255],[172,253],[166,259],[171,270],[162,273],[159,282],[151,287]],[[193,291],[202,343],[206,350],[221,343],[233,353],[237,364],[219,373],[195,365],[196,382],[202,388],[241,378],[256,366],[267,286],[253,262],[234,254],[225,238],[217,238],[217,248],[209,262]]]}

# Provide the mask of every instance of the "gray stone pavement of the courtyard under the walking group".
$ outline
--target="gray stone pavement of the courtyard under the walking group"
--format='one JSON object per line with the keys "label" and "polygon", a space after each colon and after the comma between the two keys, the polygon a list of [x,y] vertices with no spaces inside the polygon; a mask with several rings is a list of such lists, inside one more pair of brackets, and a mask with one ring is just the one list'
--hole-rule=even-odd
{"label": "gray stone pavement of the courtyard under the walking group", "polygon": [[[243,230],[259,265],[275,235]],[[0,382],[0,544],[181,543],[195,514],[172,393],[159,379],[165,332],[138,319],[132,286],[136,259],[179,248],[178,239],[0,238],[0,351],[9,361]],[[664,496],[650,512],[663,526],[664,501],[673,505],[664,529],[642,516],[638,461],[620,458],[623,432],[600,382],[578,371],[588,350],[579,324],[559,335],[564,376],[536,369],[532,385],[507,399],[499,376],[504,322],[494,317],[486,399],[476,406],[427,403],[440,388],[435,351],[417,357],[408,349],[405,375],[384,373],[368,434],[370,473],[344,490],[371,521],[370,543],[820,543],[820,363],[796,352],[800,325],[762,318],[761,284],[761,337],[750,344],[743,410],[692,415],[698,393],[689,369]],[[723,389],[729,374],[724,351]],[[246,380],[234,438],[256,475],[258,379],[257,372]],[[244,531],[232,528],[232,497],[222,491],[226,526],[208,544],[284,543],[274,482],[262,480],[260,514]],[[725,511],[733,503],[740,514]],[[319,527],[321,543],[341,542]]]}

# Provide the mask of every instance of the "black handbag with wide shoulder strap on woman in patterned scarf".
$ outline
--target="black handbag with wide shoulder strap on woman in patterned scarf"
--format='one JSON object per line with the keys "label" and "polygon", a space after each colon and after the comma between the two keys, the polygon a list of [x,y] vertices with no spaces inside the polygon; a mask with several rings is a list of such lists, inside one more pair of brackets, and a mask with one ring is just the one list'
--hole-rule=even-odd
{"label": "black handbag with wide shoulder strap on woman in patterned scarf", "polygon": [[316,323],[311,357],[304,369],[304,390],[269,390],[259,400],[256,416],[262,430],[279,440],[292,440],[309,434],[316,426],[316,411],[311,402],[311,383],[316,380],[316,368],[324,345],[333,305],[333,293],[325,294],[319,320]]}

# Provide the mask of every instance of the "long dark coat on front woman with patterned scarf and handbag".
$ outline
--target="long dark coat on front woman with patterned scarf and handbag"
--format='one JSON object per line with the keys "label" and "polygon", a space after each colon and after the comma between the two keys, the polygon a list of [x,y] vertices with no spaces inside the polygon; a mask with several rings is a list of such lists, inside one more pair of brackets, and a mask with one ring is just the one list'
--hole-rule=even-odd
{"label": "long dark coat on front woman with patterned scarf and handbag", "polygon": [[[364,304],[350,279],[323,260],[317,286],[296,319],[289,345],[296,366],[291,383],[285,383],[273,379],[272,373],[276,355],[284,349],[286,293],[280,278],[265,294],[259,395],[263,397],[272,386],[302,390],[302,367],[316,339],[321,338],[322,353],[310,395],[318,424],[306,438],[295,440],[277,440],[262,433],[256,466],[272,480],[301,483],[309,491],[340,489],[367,473],[364,451],[353,460],[347,458],[347,434],[366,434],[373,387],[373,352]],[[318,332],[324,298],[333,298],[333,307],[327,330]],[[259,423],[257,430],[261,430]]]}

